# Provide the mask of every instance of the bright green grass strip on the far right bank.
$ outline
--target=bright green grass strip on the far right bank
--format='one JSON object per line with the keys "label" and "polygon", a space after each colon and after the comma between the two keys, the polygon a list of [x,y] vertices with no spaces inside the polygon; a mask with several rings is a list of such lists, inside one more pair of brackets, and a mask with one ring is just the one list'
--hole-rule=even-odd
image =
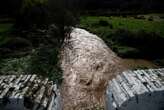
{"label": "bright green grass strip on the far right bank", "polygon": [[[99,20],[108,21],[113,25],[113,29],[107,26],[96,26]],[[97,17],[97,16],[82,16],[80,18],[80,27],[86,28],[93,33],[105,35],[116,29],[128,29],[129,31],[145,30],[146,32],[156,32],[164,36],[164,21],[148,21],[135,19],[133,17]]]}

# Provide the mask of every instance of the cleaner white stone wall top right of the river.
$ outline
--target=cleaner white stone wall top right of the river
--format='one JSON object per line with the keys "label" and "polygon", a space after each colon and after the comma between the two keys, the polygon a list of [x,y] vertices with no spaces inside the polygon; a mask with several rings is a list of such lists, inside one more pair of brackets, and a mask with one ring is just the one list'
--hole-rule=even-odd
{"label": "cleaner white stone wall top right of the river", "polygon": [[125,71],[109,82],[107,110],[164,110],[164,69]]}

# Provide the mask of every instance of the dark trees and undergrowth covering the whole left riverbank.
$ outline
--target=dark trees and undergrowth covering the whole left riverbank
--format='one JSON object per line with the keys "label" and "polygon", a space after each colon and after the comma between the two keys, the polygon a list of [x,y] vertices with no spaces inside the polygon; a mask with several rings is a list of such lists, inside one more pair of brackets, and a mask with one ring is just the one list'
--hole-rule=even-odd
{"label": "dark trees and undergrowth covering the whole left riverbank", "polygon": [[7,1],[11,7],[0,13],[0,74],[39,74],[61,84],[59,55],[74,15],[61,0]]}

